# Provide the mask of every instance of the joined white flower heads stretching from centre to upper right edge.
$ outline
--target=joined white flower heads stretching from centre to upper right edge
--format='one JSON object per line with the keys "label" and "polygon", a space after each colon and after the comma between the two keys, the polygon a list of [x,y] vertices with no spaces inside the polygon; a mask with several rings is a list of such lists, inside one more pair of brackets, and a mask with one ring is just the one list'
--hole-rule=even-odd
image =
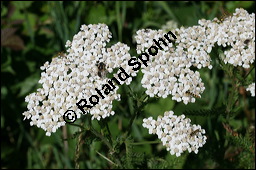
{"label": "joined white flower heads stretching from centre to upper right edge", "polygon": [[[153,97],[167,97],[172,95],[172,100],[195,102],[195,97],[200,97],[205,87],[197,71],[192,71],[191,66],[201,69],[212,68],[209,53],[215,43],[231,49],[225,51],[225,63],[234,66],[249,67],[255,59],[255,14],[248,14],[243,9],[236,9],[232,17],[223,22],[199,20],[198,26],[175,29],[177,39],[168,43],[164,38],[163,30],[142,29],[135,36],[137,53],[149,52],[151,46],[162,47],[155,56],[150,56],[147,67],[142,66],[144,73],[142,86],[146,93]],[[160,41],[162,38],[167,45]]]}

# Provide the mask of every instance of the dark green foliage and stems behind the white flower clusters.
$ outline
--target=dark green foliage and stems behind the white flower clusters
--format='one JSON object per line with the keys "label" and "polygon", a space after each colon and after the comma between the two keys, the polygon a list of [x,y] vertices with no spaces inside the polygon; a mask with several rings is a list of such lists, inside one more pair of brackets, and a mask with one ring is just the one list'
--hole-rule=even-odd
{"label": "dark green foliage and stems behind the white flower clusters", "polygon": [[[25,96],[39,87],[40,66],[64,51],[82,24],[107,24],[111,44],[122,41],[136,56],[133,35],[139,29],[160,29],[169,20],[192,26],[237,7],[255,13],[255,3],[247,1],[1,1],[1,168],[255,168],[255,98],[243,87],[255,81],[254,66],[251,72],[223,66],[217,48],[211,54],[213,69],[199,70],[206,90],[194,104],[170,96],[143,102],[140,73],[121,87],[115,116],[100,123],[84,116],[77,121],[81,133],[67,125],[46,137],[22,116]],[[206,129],[207,143],[198,154],[171,156],[141,126],[143,117],[168,110]]]}

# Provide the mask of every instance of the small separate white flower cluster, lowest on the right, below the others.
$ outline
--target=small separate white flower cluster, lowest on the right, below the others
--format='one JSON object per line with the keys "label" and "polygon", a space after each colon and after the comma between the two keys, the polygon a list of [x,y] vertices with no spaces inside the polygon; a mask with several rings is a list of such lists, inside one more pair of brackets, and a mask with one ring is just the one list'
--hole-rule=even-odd
{"label": "small separate white flower cluster, lowest on the right, below the others", "polygon": [[176,116],[173,111],[167,111],[157,120],[152,117],[143,119],[142,126],[149,130],[149,134],[157,134],[171,155],[179,157],[186,150],[197,154],[198,148],[206,143],[205,130],[190,122],[184,115]]}

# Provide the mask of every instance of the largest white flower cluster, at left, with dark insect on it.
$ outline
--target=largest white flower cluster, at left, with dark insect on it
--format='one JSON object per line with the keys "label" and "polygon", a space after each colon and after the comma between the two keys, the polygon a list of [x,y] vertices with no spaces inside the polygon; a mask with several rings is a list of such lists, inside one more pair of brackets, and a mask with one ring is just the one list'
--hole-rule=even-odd
{"label": "largest white flower cluster, at left, with dark insect on it", "polygon": [[[63,114],[67,110],[75,111],[80,118],[82,112],[76,103],[81,99],[88,101],[90,96],[97,95],[99,90],[104,90],[104,84],[104,87],[109,87],[106,85],[108,78],[104,76],[107,72],[111,73],[115,68],[122,67],[129,75],[136,76],[136,72],[127,63],[131,58],[128,53],[130,48],[122,43],[107,48],[106,43],[110,38],[111,33],[105,24],[82,25],[81,31],[74,35],[73,40],[67,41],[67,54],[60,54],[51,63],[46,62],[41,67],[43,72],[39,83],[42,88],[25,98],[28,111],[23,115],[25,119],[31,119],[31,126],[42,128],[50,136],[65,125]],[[102,64],[100,69],[99,64]],[[132,78],[129,77],[120,81],[120,84],[130,84],[131,81]],[[114,86],[113,82],[112,85]],[[118,86],[101,92],[104,98],[87,109],[92,119],[100,120],[115,114],[112,111],[112,101],[120,100],[117,90]]]}

